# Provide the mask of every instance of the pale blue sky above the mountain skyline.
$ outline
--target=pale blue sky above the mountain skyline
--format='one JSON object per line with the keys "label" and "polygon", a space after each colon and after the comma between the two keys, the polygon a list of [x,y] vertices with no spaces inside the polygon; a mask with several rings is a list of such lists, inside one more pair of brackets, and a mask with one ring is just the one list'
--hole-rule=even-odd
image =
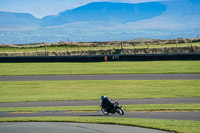
{"label": "pale blue sky above the mountain skyline", "polygon": [[169,0],[0,0],[0,11],[30,13],[37,18],[56,15],[59,12],[91,2],[142,3]]}

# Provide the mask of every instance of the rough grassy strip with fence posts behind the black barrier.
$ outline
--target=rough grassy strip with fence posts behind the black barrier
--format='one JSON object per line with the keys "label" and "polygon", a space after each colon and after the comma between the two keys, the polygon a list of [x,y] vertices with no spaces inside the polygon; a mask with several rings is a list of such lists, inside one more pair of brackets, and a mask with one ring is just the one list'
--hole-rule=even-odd
{"label": "rough grassy strip with fence posts behind the black barrier", "polygon": [[152,54],[152,53],[198,53],[200,42],[185,43],[60,43],[40,45],[1,45],[0,56],[67,56],[101,54]]}

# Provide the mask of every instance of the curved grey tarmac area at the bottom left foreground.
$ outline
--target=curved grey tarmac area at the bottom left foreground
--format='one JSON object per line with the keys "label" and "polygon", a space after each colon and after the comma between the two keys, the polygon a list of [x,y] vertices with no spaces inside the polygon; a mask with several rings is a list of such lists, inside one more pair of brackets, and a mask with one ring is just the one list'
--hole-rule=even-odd
{"label": "curved grey tarmac area at the bottom left foreground", "polygon": [[165,131],[103,124],[61,122],[1,123],[0,133],[166,133]]}

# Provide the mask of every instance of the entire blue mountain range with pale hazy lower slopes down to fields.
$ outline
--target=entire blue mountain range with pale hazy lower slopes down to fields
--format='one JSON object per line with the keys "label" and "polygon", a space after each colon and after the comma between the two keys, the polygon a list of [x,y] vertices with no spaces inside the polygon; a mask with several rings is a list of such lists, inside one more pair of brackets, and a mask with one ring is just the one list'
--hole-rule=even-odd
{"label": "entire blue mountain range with pale hazy lower slopes down to fields", "polygon": [[199,0],[93,2],[42,19],[0,11],[0,44],[193,37],[200,33],[199,7]]}

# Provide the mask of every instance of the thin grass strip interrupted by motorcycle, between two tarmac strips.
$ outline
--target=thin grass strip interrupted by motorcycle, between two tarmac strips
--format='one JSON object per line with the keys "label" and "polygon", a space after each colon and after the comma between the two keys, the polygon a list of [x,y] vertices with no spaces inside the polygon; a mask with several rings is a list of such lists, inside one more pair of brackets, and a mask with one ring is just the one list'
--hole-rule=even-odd
{"label": "thin grass strip interrupted by motorcycle, between two tarmac strips", "polygon": [[[200,104],[136,104],[123,105],[125,111],[200,111]],[[6,107],[0,111],[40,112],[40,111],[99,111],[99,106],[51,106],[51,107]]]}

